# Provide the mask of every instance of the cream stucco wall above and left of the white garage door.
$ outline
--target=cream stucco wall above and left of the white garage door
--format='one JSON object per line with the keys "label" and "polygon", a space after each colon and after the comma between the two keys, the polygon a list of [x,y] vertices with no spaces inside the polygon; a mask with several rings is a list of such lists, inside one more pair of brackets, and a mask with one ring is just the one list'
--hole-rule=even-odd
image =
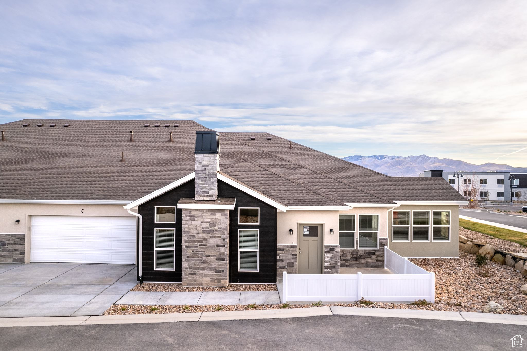
{"label": "cream stucco wall above and left of the white garage door", "polygon": [[[30,261],[31,216],[111,216],[133,217],[123,205],[0,203],[0,233],[25,234],[25,261]],[[19,219],[20,223],[15,225]]]}

